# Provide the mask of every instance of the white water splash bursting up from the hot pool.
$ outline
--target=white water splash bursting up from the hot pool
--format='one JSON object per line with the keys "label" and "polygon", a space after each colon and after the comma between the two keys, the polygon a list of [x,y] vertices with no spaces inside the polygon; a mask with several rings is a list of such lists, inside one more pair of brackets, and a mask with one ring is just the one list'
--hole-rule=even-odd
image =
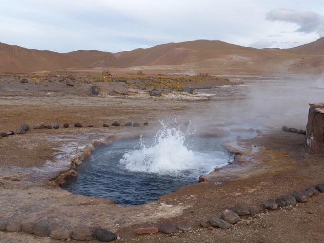
{"label": "white water splash bursting up from the hot pool", "polygon": [[125,153],[120,159],[120,164],[125,165],[126,170],[173,177],[199,177],[230,161],[230,156],[222,151],[195,151],[192,139],[195,129],[190,131],[191,124],[182,132],[181,127],[160,123],[162,128],[150,145],[145,145],[141,137],[140,149]]}

